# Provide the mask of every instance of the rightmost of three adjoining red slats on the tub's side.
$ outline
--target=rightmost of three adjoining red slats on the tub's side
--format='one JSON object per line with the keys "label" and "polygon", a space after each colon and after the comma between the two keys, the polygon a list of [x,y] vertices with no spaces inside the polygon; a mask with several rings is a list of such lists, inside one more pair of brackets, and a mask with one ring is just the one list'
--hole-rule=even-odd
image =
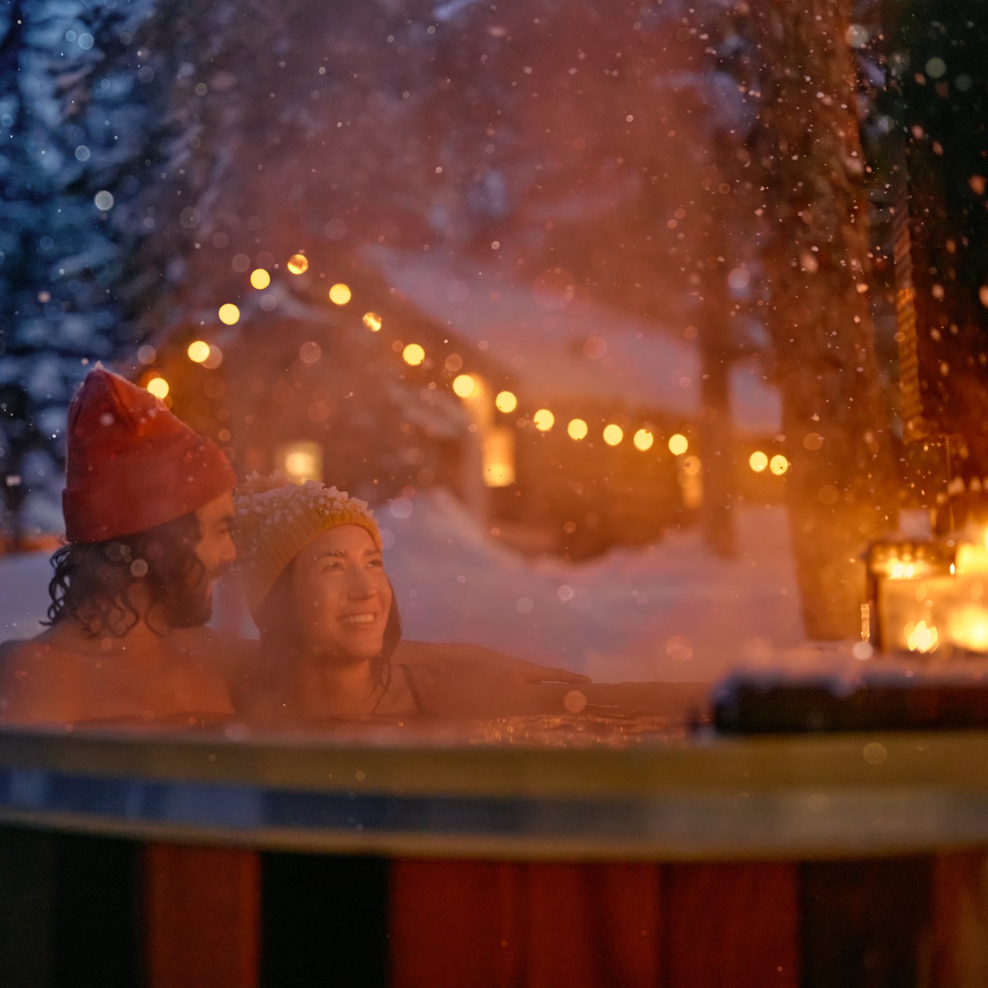
{"label": "rightmost of three adjoining red slats on the tub's side", "polygon": [[667,988],[797,988],[795,864],[668,864],[661,870]]}

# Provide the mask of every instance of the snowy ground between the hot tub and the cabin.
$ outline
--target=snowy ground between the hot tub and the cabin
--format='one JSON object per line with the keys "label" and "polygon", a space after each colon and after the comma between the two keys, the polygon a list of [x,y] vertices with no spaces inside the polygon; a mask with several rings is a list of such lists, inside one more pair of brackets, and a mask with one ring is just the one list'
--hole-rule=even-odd
{"label": "snowy ground between the hot tub and the cabin", "polygon": [[[477,642],[616,682],[716,679],[803,637],[782,508],[739,513],[732,563],[696,531],[575,565],[527,559],[441,491],[378,518],[409,638]],[[41,554],[0,559],[3,638],[37,633],[48,573]],[[231,599],[217,597],[217,622],[250,633]]]}

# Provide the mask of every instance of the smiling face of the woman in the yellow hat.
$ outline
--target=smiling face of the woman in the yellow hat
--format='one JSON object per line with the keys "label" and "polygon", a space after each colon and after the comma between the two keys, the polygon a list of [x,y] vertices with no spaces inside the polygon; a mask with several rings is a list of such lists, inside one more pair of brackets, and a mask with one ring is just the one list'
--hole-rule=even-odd
{"label": "smiling face of the woman in the yellow hat", "polygon": [[367,529],[341,525],[313,538],[295,557],[292,596],[309,646],[342,661],[380,654],[392,594]]}

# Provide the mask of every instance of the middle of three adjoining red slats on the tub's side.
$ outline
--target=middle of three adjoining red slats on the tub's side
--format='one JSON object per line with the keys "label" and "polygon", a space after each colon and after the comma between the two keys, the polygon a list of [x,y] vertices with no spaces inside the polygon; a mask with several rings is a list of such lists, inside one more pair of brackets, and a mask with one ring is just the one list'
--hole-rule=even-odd
{"label": "middle of three adjoining red slats on the tub's side", "polygon": [[654,864],[530,864],[525,882],[530,988],[659,984]]}

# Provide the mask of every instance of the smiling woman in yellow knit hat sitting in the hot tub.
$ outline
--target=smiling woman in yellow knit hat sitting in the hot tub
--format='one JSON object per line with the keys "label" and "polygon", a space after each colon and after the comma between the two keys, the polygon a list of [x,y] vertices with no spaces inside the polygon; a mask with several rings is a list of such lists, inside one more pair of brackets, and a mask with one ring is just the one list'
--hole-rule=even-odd
{"label": "smiling woman in yellow knit hat sitting in the hot tub", "polygon": [[565,670],[476,646],[399,646],[401,620],[365,502],[308,481],[257,474],[234,492],[233,536],[247,603],[261,632],[251,719],[311,722],[414,711],[401,664],[453,662],[502,679],[586,682]]}

